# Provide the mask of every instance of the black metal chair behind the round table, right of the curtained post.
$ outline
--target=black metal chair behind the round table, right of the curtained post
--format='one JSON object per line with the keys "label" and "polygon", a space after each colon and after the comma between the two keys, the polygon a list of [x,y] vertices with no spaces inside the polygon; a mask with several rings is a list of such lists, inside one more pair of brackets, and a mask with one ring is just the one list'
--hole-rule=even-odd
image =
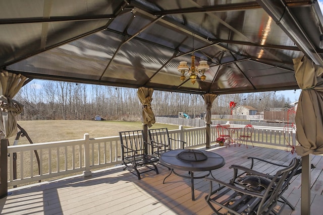
{"label": "black metal chair behind the round table, right of the curtained post", "polygon": [[184,149],[186,144],[183,140],[171,138],[167,128],[156,128],[148,130],[150,144],[153,153],[160,157],[161,154],[173,149]]}

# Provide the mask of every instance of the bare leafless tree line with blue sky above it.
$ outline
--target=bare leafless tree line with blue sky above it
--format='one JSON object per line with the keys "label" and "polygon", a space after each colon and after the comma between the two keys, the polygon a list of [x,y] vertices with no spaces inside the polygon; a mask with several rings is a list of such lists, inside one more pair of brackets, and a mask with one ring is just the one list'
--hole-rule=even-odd
{"label": "bare leafless tree line with blue sky above it", "polygon": [[[14,98],[24,105],[18,120],[91,120],[96,115],[107,120],[140,120],[142,106],[137,89],[53,81],[42,81],[40,86],[34,81]],[[177,116],[185,112],[193,118],[205,113],[201,95],[154,91],[152,98],[156,116]],[[231,101],[237,106],[252,106],[258,112],[266,107],[288,107],[291,103],[289,98],[274,92],[219,95],[213,102],[212,114],[230,114]]]}

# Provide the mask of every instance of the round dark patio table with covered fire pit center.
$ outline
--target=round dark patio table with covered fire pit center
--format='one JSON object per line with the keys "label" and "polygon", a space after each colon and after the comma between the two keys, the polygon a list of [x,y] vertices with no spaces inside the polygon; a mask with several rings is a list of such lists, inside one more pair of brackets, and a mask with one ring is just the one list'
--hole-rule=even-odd
{"label": "round dark patio table with covered fire pit center", "polygon": [[[203,150],[171,150],[162,154],[159,161],[160,164],[171,169],[170,174],[164,178],[163,184],[172,173],[191,179],[192,200],[195,200],[194,179],[205,178],[211,174],[211,170],[219,169],[226,163],[221,155]],[[174,170],[188,171],[190,176],[179,174]],[[194,177],[194,172],[204,171],[207,173],[203,176]]]}

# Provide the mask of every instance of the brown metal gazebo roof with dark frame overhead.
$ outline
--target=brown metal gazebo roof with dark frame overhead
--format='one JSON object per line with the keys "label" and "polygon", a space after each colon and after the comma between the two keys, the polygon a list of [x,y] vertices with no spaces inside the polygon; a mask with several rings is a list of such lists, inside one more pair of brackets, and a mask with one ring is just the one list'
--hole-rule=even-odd
{"label": "brown metal gazebo roof with dark frame overhead", "polygon": [[[323,65],[317,1],[0,2],[0,67],[31,79],[183,93],[298,89],[292,59]],[[207,60],[206,81],[177,66]]]}

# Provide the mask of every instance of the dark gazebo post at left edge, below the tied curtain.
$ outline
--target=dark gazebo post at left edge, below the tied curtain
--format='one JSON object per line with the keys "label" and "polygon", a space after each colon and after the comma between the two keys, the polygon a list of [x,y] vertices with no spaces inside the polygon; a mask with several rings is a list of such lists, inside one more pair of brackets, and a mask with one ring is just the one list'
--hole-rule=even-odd
{"label": "dark gazebo post at left edge, below the tied curtain", "polygon": [[0,141],[0,198],[8,195],[8,139]]}

